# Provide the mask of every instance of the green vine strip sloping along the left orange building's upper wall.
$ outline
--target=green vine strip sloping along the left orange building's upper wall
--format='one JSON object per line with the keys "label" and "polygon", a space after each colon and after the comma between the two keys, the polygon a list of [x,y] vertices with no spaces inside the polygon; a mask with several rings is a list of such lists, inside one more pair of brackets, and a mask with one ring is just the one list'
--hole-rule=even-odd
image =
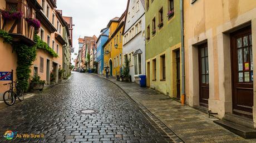
{"label": "green vine strip sloping along the left orange building's upper wall", "polygon": [[58,54],[55,53],[55,51],[51,47],[49,47],[47,43],[43,42],[43,40],[41,40],[41,38],[38,35],[35,35],[35,42],[37,43],[35,45],[36,49],[43,49],[46,52],[48,52],[50,55],[52,55],[52,57],[55,57],[55,58],[58,57]]}

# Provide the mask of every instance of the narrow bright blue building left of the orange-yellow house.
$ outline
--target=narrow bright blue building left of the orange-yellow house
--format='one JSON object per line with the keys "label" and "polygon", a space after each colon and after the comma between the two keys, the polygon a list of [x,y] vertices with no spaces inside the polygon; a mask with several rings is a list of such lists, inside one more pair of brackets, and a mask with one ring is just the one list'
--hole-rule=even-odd
{"label": "narrow bright blue building left of the orange-yellow house", "polygon": [[102,47],[107,39],[109,38],[109,28],[101,29],[101,34],[97,39],[97,58],[95,59],[98,62],[98,74],[102,74],[104,71],[104,47]]}

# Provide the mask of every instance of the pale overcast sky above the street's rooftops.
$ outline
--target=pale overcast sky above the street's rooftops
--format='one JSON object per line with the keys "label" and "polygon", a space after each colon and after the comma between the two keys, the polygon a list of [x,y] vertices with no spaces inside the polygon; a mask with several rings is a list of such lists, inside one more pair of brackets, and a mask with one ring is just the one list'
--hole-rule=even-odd
{"label": "pale overcast sky above the street's rooftops", "polygon": [[[63,16],[73,17],[73,48],[78,53],[78,38],[99,37],[100,30],[107,26],[110,19],[124,13],[127,0],[57,0],[57,9]],[[72,53],[72,58],[76,55]],[[71,60],[73,64],[73,60]]]}

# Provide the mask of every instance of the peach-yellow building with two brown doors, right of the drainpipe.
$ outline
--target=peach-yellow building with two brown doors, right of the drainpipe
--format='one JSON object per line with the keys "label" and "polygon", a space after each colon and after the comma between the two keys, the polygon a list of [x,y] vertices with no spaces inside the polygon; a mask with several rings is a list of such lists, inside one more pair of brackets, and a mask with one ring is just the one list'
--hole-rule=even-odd
{"label": "peach-yellow building with two brown doors, right of the drainpipe", "polygon": [[184,1],[186,104],[251,128],[256,127],[255,13],[254,0]]}

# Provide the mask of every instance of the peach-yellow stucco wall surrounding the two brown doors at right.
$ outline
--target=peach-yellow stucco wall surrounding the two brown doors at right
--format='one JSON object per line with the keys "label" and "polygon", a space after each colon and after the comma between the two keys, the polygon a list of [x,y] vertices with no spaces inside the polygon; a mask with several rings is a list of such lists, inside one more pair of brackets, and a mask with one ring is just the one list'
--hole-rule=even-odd
{"label": "peach-yellow stucco wall surrounding the two brown doors at right", "polygon": [[[223,118],[232,113],[230,33],[252,25],[256,35],[256,3],[253,0],[184,1],[186,103],[199,105],[198,44],[208,43],[209,110]],[[214,7],[213,7],[214,6]],[[215,8],[218,7],[218,8]],[[256,39],[253,38],[253,47]],[[253,60],[255,61],[255,50]],[[254,74],[256,72],[254,71]],[[255,83],[254,83],[255,89]],[[255,105],[254,91],[254,105]],[[255,122],[255,109],[253,107]]]}

